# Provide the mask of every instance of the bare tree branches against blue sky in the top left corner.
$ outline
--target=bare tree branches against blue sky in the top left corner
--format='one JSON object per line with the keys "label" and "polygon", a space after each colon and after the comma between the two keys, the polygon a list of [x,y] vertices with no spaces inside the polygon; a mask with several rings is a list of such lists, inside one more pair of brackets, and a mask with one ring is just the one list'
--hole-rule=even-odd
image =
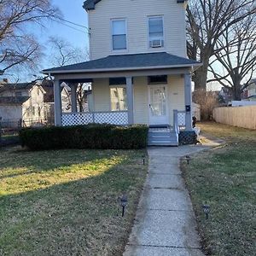
{"label": "bare tree branches against blue sky in the top left corner", "polygon": [[43,25],[44,20],[58,15],[50,0],[0,1],[0,69],[2,73],[12,67],[35,67],[41,56],[41,47],[29,24]]}

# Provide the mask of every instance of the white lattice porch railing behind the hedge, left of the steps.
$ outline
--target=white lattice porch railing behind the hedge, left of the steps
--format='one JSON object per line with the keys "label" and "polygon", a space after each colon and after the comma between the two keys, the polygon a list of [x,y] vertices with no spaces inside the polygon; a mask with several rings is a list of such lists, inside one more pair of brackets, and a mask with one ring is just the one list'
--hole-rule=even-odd
{"label": "white lattice porch railing behind the hedge, left of the steps", "polygon": [[111,112],[83,112],[83,113],[62,113],[61,121],[63,126],[88,125],[88,124],[111,124],[128,125],[127,111]]}

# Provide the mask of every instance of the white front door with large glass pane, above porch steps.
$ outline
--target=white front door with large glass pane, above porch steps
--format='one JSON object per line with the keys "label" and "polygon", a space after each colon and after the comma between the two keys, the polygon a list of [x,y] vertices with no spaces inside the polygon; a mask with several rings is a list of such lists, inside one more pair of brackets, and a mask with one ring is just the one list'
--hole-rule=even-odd
{"label": "white front door with large glass pane, above porch steps", "polygon": [[168,124],[165,85],[148,86],[148,103],[149,125]]}

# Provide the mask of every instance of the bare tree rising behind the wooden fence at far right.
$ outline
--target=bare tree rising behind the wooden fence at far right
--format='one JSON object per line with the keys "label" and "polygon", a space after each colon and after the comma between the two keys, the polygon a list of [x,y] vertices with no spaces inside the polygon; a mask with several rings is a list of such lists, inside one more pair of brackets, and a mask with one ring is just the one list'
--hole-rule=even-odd
{"label": "bare tree rising behind the wooden fence at far right", "polygon": [[209,81],[218,81],[239,101],[256,70],[256,16],[248,16],[230,26],[218,38],[217,47],[221,50],[215,52],[210,62],[213,79]]}

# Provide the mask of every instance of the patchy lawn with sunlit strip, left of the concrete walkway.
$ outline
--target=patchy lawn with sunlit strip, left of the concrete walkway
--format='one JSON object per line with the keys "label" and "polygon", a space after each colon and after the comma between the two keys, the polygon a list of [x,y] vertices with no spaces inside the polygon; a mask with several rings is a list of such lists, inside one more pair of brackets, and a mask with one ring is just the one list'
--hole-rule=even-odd
{"label": "patchy lawn with sunlit strip, left of the concrete walkway", "polygon": [[146,177],[143,154],[0,150],[0,255],[120,255]]}

